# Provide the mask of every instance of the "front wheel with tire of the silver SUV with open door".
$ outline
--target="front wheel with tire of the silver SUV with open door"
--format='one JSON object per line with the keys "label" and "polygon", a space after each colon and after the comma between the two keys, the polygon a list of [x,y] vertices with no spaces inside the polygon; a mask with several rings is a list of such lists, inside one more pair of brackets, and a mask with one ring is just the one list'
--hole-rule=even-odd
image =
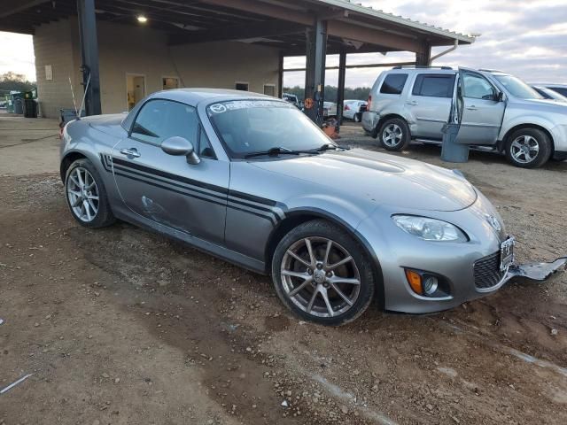
{"label": "front wheel with tire of the silver SUV with open door", "polygon": [[549,136],[538,128],[520,128],[506,141],[506,158],[513,166],[538,168],[551,157]]}

